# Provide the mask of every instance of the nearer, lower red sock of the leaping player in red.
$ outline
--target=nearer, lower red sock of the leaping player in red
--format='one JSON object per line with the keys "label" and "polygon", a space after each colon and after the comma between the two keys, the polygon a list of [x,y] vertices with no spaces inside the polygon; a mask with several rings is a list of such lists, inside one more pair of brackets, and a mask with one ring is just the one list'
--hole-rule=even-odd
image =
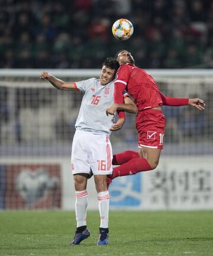
{"label": "nearer, lower red sock of the leaping player in red", "polygon": [[112,179],[118,176],[137,174],[137,172],[141,171],[149,171],[150,169],[151,167],[146,158],[134,158],[119,167],[113,168]]}

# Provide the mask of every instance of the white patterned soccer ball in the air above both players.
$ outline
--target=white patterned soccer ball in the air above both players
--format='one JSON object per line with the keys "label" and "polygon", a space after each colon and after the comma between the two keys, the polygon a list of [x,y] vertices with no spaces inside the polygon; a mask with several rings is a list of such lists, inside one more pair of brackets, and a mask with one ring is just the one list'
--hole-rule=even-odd
{"label": "white patterned soccer ball in the air above both players", "polygon": [[119,19],[112,25],[112,34],[118,40],[127,40],[133,34],[133,24],[127,19]]}

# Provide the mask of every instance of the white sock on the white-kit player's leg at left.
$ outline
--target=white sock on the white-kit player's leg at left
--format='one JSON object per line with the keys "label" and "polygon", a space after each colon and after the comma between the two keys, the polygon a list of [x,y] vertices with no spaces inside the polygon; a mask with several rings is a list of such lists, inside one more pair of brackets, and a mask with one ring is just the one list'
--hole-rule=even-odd
{"label": "white sock on the white-kit player's leg at left", "polygon": [[86,210],[88,206],[88,191],[76,191],[76,222],[77,228],[79,226],[86,226]]}

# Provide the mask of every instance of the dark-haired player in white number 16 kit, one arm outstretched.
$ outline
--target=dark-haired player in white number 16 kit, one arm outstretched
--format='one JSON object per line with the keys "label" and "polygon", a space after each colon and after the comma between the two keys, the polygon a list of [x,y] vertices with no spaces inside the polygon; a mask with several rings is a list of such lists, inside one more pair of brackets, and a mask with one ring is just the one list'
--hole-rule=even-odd
{"label": "dark-haired player in white number 16 kit, one arm outstretched", "polygon": [[[109,140],[114,116],[106,116],[106,108],[114,103],[114,78],[119,63],[110,57],[102,65],[99,79],[90,78],[80,82],[63,82],[48,72],[41,73],[41,79],[48,80],[57,89],[76,89],[84,96],[76,120],[76,132],[73,137],[71,167],[76,190],[76,221],[77,229],[70,245],[78,245],[90,233],[86,226],[86,210],[88,206],[88,191],[86,184],[92,169],[96,191],[98,193],[101,225],[97,245],[108,244],[108,213],[109,192],[107,175],[112,174],[112,147]],[[136,113],[133,101],[124,95],[123,110]],[[116,126],[115,130],[121,126]]]}

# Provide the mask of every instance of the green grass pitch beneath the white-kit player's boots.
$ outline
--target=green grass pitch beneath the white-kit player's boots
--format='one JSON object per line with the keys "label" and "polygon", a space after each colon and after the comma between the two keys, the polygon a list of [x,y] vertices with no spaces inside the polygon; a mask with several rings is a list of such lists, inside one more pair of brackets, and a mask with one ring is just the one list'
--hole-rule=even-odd
{"label": "green grass pitch beneath the white-kit player's boots", "polygon": [[88,211],[91,236],[69,247],[74,212],[0,212],[0,255],[213,255],[213,211],[110,211],[109,244],[98,247],[99,213]]}

